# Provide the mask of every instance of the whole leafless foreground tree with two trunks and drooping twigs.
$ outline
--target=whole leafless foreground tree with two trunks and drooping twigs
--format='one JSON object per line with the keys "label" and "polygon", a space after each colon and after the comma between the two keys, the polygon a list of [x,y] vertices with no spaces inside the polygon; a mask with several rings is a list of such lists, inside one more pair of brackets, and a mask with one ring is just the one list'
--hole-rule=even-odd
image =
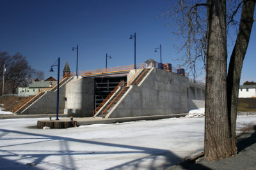
{"label": "whole leafless foreground tree with two trunks and drooping twigs", "polygon": [[[163,16],[170,17],[184,39],[184,66],[200,59],[206,67],[205,159],[236,155],[236,112],[243,59],[252,31],[255,0],[176,1]],[[226,5],[227,4],[227,5]],[[241,11],[240,20],[236,17]],[[239,27],[227,74],[227,30]]]}

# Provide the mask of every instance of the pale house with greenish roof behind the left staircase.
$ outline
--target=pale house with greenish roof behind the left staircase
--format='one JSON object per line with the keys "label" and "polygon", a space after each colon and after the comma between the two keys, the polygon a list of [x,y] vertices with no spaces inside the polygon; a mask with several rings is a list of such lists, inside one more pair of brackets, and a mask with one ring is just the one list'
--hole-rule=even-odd
{"label": "pale house with greenish roof behind the left staircase", "polygon": [[[50,77],[51,78],[51,77]],[[53,78],[54,79],[54,78]],[[54,79],[55,80],[55,79]],[[34,81],[29,87],[19,87],[19,96],[33,96],[38,94],[42,89],[51,89],[57,81],[49,81],[49,78],[45,81]]]}

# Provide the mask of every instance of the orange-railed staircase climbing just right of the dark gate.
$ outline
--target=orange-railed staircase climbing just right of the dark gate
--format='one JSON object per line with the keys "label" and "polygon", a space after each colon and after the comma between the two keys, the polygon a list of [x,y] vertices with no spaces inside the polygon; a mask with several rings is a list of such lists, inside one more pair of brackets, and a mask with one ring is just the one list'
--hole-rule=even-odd
{"label": "orange-railed staircase climbing just right of the dark gate", "polygon": [[125,87],[122,87],[118,92],[116,92],[115,96],[113,96],[112,99],[108,101],[108,103],[100,111],[100,113],[97,114],[97,117],[106,117],[109,111],[111,111],[115,107],[116,103],[118,103],[118,101],[124,96],[125,92],[127,92],[129,86],[138,85],[141,80],[143,80],[143,78],[147,75],[148,71],[150,71],[150,69],[142,69],[140,71],[140,74],[138,74],[138,76],[136,76],[134,80],[132,80],[130,83],[127,83]]}

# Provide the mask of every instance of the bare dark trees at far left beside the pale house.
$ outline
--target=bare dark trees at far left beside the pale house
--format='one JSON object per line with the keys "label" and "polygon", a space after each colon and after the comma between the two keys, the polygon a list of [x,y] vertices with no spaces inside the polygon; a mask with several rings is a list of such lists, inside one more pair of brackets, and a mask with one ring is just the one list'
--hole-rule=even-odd
{"label": "bare dark trees at far left beside the pale house", "polygon": [[0,94],[2,94],[3,73],[4,94],[16,94],[18,87],[27,87],[35,79],[44,80],[44,72],[29,66],[26,57],[20,53],[11,56],[7,52],[0,52]]}

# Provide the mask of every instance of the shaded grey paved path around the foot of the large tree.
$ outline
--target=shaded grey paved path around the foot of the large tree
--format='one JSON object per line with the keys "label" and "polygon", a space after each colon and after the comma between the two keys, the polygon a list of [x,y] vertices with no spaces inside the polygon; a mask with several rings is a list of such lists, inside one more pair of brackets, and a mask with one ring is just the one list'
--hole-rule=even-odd
{"label": "shaded grey paved path around the foot of the large tree", "polygon": [[168,168],[168,170],[180,169],[256,169],[256,127],[245,132],[237,138],[236,157],[207,162],[205,159],[198,163],[184,162],[178,166]]}

